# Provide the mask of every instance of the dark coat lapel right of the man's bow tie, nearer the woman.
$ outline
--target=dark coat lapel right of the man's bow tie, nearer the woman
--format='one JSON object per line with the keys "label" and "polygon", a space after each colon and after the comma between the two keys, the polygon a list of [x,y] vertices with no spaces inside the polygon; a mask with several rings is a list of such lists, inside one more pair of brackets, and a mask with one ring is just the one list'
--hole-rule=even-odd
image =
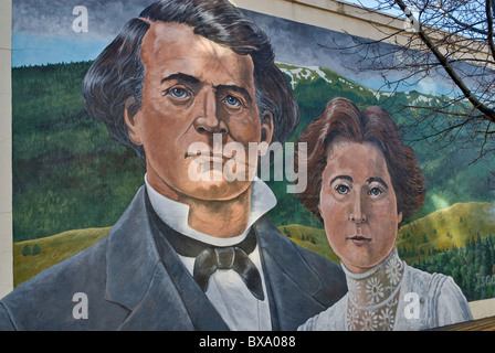
{"label": "dark coat lapel right of the man's bow tie, nearer the woman", "polygon": [[294,243],[265,217],[256,223],[267,282],[273,330],[291,331],[326,309],[314,296],[322,281]]}

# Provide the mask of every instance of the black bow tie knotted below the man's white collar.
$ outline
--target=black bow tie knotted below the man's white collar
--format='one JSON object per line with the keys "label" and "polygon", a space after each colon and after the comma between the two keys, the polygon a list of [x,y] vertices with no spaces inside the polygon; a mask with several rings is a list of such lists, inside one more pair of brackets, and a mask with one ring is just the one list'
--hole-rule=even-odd
{"label": "black bow tie knotted below the man's white collar", "polygon": [[158,217],[149,200],[147,200],[147,206],[155,224],[177,254],[196,257],[192,276],[204,292],[208,289],[210,276],[218,269],[233,269],[241,276],[253,296],[259,300],[264,300],[260,271],[247,256],[256,247],[256,236],[253,228],[250,229],[244,240],[238,245],[213,246],[176,232]]}

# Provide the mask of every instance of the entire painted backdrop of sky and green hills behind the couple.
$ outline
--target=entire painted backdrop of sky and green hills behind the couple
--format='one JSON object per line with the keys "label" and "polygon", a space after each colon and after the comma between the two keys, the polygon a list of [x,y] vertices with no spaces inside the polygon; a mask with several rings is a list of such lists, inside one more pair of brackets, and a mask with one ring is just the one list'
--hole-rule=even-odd
{"label": "entire painted backdrop of sky and green hills behind the couple", "polygon": [[[80,92],[92,61],[150,1],[12,1],[14,286],[105,237],[144,182],[137,157],[89,118]],[[73,31],[73,9],[81,4],[88,11],[88,32]],[[428,184],[424,206],[399,231],[400,256],[425,271],[452,276],[470,301],[495,297],[494,157],[473,163],[475,141],[460,148],[420,138],[435,125],[406,128],[421,109],[402,107],[449,99],[442,96],[450,89],[445,82],[425,77],[391,94],[381,89],[379,72],[356,69],[356,53],[328,50],[352,46],[349,35],[242,11],[268,34],[299,103],[301,125],[291,141],[336,96],[391,111]],[[286,184],[268,182],[278,201],[268,216],[294,243],[339,261],[323,225],[286,193]]]}

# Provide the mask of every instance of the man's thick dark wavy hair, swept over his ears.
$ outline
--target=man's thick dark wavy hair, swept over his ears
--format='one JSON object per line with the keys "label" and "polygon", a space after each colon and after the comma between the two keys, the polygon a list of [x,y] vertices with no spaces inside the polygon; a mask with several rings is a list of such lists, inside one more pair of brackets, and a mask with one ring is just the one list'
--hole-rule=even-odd
{"label": "man's thick dark wavy hair, swept over his ears", "polygon": [[299,119],[298,106],[283,73],[274,63],[266,34],[225,0],[162,0],[154,2],[139,18],[127,22],[84,78],[82,93],[86,110],[104,121],[113,137],[136,150],[145,160],[143,147],[129,139],[124,111],[126,100],[130,116],[140,108],[145,78],[140,46],[149,23],[156,21],[188,24],[196,34],[225,45],[236,54],[251,55],[259,111],[268,110],[273,115],[272,142],[284,142],[294,133]]}

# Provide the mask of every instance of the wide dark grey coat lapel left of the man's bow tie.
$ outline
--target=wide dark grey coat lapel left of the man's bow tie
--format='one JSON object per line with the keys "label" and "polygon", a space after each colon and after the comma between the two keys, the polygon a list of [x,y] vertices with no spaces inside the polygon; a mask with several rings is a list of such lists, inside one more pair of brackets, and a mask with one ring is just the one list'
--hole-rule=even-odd
{"label": "wide dark grey coat lapel left of the man's bow tie", "polygon": [[141,188],[108,235],[105,298],[130,310],[119,329],[228,330],[170,245],[157,246],[156,232]]}

